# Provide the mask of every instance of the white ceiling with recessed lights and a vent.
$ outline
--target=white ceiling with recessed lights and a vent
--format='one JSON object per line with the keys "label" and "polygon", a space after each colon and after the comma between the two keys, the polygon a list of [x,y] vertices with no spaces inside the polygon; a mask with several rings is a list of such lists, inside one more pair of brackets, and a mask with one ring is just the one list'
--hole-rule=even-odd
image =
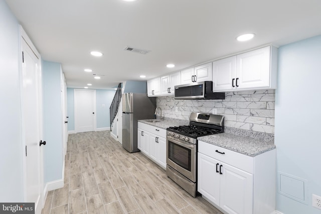
{"label": "white ceiling with recessed lights and a vent", "polygon": [[[109,89],[273,44],[321,35],[319,0],[7,0],[44,60],[67,86]],[[237,42],[243,33],[255,33]],[[126,46],[150,50],[146,55]],[[100,58],[89,52],[101,51]],[[175,68],[167,68],[173,63]],[[84,72],[91,68],[92,73]],[[93,73],[105,75],[93,79]]]}

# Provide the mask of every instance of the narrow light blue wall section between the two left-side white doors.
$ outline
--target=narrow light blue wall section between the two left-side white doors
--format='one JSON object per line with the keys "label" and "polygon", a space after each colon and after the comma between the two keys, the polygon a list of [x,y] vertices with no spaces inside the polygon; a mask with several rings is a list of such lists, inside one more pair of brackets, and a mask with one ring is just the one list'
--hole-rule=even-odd
{"label": "narrow light blue wall section between the two left-side white doors", "polygon": [[63,178],[61,64],[43,61],[44,182]]}

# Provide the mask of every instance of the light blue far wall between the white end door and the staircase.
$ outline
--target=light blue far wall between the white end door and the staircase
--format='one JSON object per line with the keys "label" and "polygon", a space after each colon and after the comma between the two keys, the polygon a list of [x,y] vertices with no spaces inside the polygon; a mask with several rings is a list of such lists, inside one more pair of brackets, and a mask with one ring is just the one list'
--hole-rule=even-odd
{"label": "light blue far wall between the white end door and the staircase", "polygon": [[96,90],[97,128],[110,127],[109,107],[115,93],[115,90]]}

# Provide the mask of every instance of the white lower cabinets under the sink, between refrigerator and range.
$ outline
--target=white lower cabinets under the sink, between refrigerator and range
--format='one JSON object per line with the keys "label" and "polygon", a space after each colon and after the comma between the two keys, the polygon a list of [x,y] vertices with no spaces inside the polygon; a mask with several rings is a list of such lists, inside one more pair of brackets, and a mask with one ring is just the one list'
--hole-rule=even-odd
{"label": "white lower cabinets under the sink, between refrigerator and range", "polygon": [[138,122],[137,147],[166,169],[166,130]]}

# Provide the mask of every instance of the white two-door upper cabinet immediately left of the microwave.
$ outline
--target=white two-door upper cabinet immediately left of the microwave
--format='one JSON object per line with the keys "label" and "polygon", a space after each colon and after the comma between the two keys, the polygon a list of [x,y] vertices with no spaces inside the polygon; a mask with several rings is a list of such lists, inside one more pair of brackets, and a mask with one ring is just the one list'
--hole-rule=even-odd
{"label": "white two-door upper cabinet immediately left of the microwave", "polygon": [[175,86],[181,84],[181,72],[161,77],[162,95],[174,95]]}

